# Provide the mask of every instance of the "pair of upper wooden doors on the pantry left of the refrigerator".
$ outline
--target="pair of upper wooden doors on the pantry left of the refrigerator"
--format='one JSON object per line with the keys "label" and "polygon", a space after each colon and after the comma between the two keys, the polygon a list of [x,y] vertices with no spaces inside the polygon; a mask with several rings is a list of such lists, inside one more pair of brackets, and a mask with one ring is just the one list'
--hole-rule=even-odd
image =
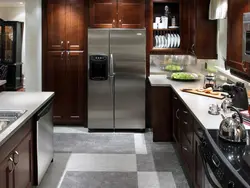
{"label": "pair of upper wooden doors on the pantry left of the refrigerator", "polygon": [[47,3],[48,50],[84,49],[84,2],[52,0]]}

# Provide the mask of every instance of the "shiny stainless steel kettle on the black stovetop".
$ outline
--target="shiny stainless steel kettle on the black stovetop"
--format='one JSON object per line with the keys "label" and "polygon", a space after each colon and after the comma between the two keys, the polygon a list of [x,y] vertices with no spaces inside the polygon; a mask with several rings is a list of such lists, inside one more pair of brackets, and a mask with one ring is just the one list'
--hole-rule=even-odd
{"label": "shiny stainless steel kettle on the black stovetop", "polygon": [[246,142],[247,132],[243,125],[242,115],[235,107],[228,106],[228,108],[237,112],[240,120],[238,120],[236,114],[227,118],[222,115],[223,120],[220,124],[219,137],[229,142]]}

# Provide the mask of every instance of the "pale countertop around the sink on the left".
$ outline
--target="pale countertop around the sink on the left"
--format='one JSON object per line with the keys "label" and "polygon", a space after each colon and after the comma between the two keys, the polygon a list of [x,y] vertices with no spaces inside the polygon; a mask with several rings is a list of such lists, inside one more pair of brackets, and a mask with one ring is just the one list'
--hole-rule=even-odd
{"label": "pale countertop around the sink on the left", "polygon": [[1,92],[0,110],[27,110],[27,112],[0,133],[0,146],[53,96],[53,92]]}

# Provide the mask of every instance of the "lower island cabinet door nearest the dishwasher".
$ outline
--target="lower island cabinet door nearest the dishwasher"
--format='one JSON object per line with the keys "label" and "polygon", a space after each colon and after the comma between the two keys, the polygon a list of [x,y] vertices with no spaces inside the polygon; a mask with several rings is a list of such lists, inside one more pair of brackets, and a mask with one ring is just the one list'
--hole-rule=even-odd
{"label": "lower island cabinet door nearest the dishwasher", "polygon": [[31,133],[16,147],[13,153],[15,164],[15,188],[32,187],[32,145]]}

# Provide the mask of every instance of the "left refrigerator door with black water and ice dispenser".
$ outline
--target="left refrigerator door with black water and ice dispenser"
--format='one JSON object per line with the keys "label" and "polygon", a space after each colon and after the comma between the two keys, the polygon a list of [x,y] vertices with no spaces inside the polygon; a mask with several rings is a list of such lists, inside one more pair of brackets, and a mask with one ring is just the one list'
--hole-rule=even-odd
{"label": "left refrigerator door with black water and ice dispenser", "polygon": [[[108,77],[105,79],[91,78],[90,58],[108,57],[109,64],[109,30],[88,30],[88,128],[89,129],[113,129],[113,78],[110,76],[108,65]],[[94,56],[93,56],[94,55]],[[97,55],[97,56],[96,56]],[[100,56],[100,58],[99,58]],[[99,59],[98,59],[99,58]],[[92,58],[93,59],[93,58]],[[98,69],[99,64],[94,66]],[[102,68],[100,68],[101,70]],[[103,69],[102,69],[103,70]],[[99,74],[99,70],[93,75]],[[102,75],[102,74],[101,74]]]}

